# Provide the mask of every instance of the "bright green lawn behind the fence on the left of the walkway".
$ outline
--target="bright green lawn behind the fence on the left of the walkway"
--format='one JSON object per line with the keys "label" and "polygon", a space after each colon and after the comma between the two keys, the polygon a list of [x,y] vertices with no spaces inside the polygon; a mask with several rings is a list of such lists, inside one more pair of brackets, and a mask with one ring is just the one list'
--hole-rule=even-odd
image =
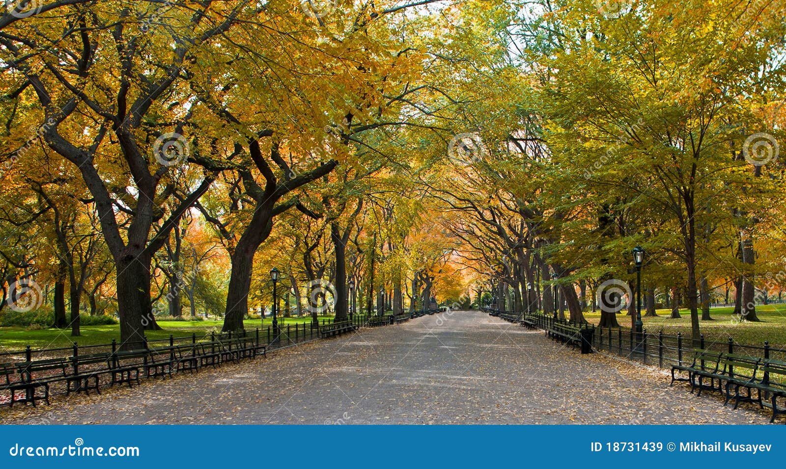
{"label": "bright green lawn behind the fence on the left of the walkway", "polygon": [[[331,316],[332,317],[332,316]],[[329,316],[320,316],[320,319]],[[295,325],[311,322],[310,316],[302,318],[278,318],[279,326]],[[160,321],[163,330],[146,331],[148,340],[167,339],[170,334],[175,337],[204,336],[211,332],[220,332],[223,321]],[[265,318],[264,325],[259,319],[246,319],[244,327],[247,330],[267,327],[273,324],[273,319]],[[27,329],[24,327],[0,327],[0,352],[20,351],[26,345],[34,349],[70,347],[74,342],[79,345],[110,344],[112,339],[120,340],[119,325],[83,325],[82,335],[71,336],[71,329]],[[293,332],[294,333],[294,332]]]}

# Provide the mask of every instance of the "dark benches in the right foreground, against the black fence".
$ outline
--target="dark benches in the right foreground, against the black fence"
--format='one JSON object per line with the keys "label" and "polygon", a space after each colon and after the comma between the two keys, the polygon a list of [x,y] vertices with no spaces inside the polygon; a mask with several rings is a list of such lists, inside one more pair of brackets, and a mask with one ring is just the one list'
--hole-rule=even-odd
{"label": "dark benches in the right foreground, against the black fence", "polygon": [[[688,373],[688,377],[675,373]],[[704,384],[705,380],[709,384]],[[671,367],[671,384],[675,381],[688,382],[691,392],[698,389],[697,395],[704,389],[725,393],[723,405],[734,399],[734,409],[740,402],[757,402],[762,409],[769,407],[773,411],[770,423],[786,413],[786,408],[777,405],[777,398],[786,398],[786,362],[697,348],[690,365]],[[740,394],[740,390],[747,392]]]}

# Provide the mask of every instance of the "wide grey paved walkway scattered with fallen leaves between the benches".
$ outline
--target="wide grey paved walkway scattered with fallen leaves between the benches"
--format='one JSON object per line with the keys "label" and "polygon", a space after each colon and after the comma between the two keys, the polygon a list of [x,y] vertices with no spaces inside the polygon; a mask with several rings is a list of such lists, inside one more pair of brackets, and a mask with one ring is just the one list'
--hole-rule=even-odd
{"label": "wide grey paved walkway scattered with fallen leaves between the benches", "polygon": [[3,424],[762,424],[662,371],[582,355],[477,311],[363,329],[101,396],[0,410]]}

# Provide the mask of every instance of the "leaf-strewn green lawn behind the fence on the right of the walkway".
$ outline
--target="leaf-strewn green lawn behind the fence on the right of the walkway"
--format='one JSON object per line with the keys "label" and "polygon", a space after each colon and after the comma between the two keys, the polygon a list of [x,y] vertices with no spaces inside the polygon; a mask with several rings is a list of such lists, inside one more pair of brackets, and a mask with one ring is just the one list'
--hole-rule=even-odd
{"label": "leaf-strewn green lawn behind the fence on the right of the walkway", "polygon": [[[786,346],[786,304],[768,304],[756,307],[756,314],[762,322],[739,322],[734,320],[733,307],[712,308],[710,315],[714,321],[700,321],[700,330],[712,340],[727,340],[733,337],[740,344],[762,345],[765,340],[770,345]],[[682,318],[670,319],[671,310],[657,310],[659,318],[641,318],[648,333],[690,336],[690,311],[680,310]],[[699,311],[701,315],[701,311]],[[584,313],[587,321],[597,324],[601,313]],[[630,316],[617,314],[617,321],[624,328],[630,328]]]}

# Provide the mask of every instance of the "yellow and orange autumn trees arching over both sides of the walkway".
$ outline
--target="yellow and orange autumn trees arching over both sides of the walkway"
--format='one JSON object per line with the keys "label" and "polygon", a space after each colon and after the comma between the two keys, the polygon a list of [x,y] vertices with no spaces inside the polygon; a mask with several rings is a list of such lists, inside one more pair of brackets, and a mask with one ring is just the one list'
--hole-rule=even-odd
{"label": "yellow and orange autumn trees arching over both sides of the walkway", "polygon": [[615,327],[641,246],[645,316],[747,327],[786,285],[784,14],[12,2],[0,325],[116,317],[134,348],[168,320],[439,303]]}

